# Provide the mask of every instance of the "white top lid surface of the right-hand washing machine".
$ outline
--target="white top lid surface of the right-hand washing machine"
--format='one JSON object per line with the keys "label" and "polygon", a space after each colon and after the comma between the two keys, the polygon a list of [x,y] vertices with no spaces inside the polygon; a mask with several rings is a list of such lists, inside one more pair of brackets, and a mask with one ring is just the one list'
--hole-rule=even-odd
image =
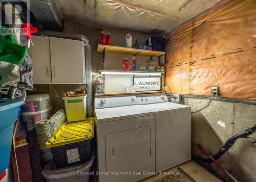
{"label": "white top lid surface of the right-hand washing machine", "polygon": [[148,110],[154,111],[156,113],[159,112],[169,112],[169,111],[177,111],[177,110],[184,110],[190,109],[190,106],[180,105],[178,103],[173,102],[162,102],[162,103],[152,103],[149,105],[144,105]]}

